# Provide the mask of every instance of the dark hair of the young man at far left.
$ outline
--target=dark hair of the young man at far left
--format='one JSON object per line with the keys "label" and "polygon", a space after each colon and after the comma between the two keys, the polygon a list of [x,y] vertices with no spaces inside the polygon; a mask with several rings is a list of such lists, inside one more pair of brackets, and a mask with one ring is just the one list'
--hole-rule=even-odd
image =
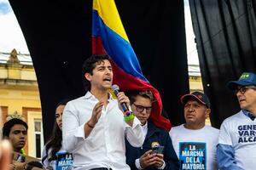
{"label": "dark hair of the young man at far left", "polygon": [[26,127],[26,130],[28,128],[26,122],[22,121],[21,119],[17,119],[17,118],[10,119],[8,122],[5,122],[3,124],[3,138],[4,137],[9,138],[9,133],[11,128],[17,124],[23,125],[24,127]]}

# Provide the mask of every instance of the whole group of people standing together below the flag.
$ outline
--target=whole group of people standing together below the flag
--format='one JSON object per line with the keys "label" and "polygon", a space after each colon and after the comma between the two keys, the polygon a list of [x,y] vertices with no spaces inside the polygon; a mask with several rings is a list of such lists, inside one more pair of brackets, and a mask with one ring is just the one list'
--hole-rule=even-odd
{"label": "whole group of people standing together below the flag", "polygon": [[[155,101],[151,91],[119,92],[116,96],[109,93],[113,68],[108,55],[86,59],[83,75],[86,94],[56,105],[54,129],[42,155],[43,169],[253,170],[256,167],[255,74],[245,72],[239,80],[228,83],[241,111],[225,119],[219,130],[205,123],[211,114],[207,95],[194,92],[181,97],[185,122],[172,127],[170,132],[150,119]],[[26,155],[23,147],[27,129],[26,122],[20,119],[4,123],[3,138],[9,140],[20,157],[1,169],[28,169],[26,161],[22,161]],[[0,167],[9,162],[3,153],[0,158]]]}

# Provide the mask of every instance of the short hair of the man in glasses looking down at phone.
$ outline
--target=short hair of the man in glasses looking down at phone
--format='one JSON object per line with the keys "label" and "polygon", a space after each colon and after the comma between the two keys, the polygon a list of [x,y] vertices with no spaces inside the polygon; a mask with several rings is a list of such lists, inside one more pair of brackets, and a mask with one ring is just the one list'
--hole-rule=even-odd
{"label": "short hair of the man in glasses looking down at phone", "polygon": [[127,96],[130,99],[130,103],[133,104],[137,96],[142,96],[143,98],[150,99],[151,103],[154,103],[154,94],[150,90],[145,91],[129,91],[127,92]]}

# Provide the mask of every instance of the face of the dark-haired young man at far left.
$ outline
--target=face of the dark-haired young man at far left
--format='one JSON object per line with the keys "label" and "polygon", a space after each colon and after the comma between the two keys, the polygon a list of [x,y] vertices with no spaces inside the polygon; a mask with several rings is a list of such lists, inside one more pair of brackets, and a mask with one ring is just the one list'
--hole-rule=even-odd
{"label": "face of the dark-haired young man at far left", "polygon": [[26,127],[20,124],[15,124],[9,132],[9,141],[13,145],[15,151],[20,151],[26,144]]}

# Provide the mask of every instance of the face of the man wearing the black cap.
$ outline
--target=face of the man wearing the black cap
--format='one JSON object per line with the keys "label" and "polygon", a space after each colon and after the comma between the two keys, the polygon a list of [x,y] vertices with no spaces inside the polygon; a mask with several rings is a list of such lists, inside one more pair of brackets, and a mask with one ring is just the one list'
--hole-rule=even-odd
{"label": "face of the man wearing the black cap", "polygon": [[187,124],[204,125],[209,114],[209,109],[206,105],[201,104],[196,99],[189,99],[184,105],[184,117]]}

